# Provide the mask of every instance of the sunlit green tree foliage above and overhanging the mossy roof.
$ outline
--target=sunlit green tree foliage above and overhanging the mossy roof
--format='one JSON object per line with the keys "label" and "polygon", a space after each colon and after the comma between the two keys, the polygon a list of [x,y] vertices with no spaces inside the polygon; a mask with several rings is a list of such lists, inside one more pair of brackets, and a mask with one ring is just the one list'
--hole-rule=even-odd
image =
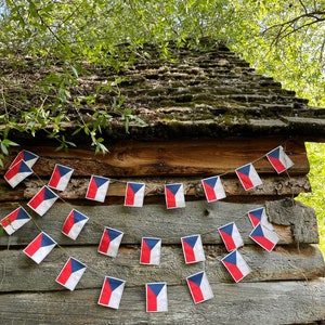
{"label": "sunlit green tree foliage above and overhanging the mossy roof", "polygon": [[[274,77],[312,105],[325,107],[323,1],[6,0],[0,2],[1,57],[10,61],[13,70],[26,68],[30,61],[40,67],[61,68],[49,70],[38,80],[32,103],[20,84],[0,73],[0,161],[8,147],[15,145],[10,140],[12,129],[35,134],[46,127],[49,131],[51,126],[49,136],[60,141],[58,148],[74,145],[62,130],[69,121],[69,109],[79,115],[84,103],[91,108],[89,119],[80,118],[76,132],[89,136],[95,152],[105,153],[101,130],[112,113],[126,121],[126,131],[131,119],[143,121],[125,107],[123,95],[118,91],[120,80],[101,84],[94,93],[72,94],[72,87],[89,73],[84,66],[119,70],[136,57],[148,55],[139,51],[145,43],[156,46],[161,56],[171,60],[171,41],[182,47],[190,39],[196,47],[203,37],[226,42],[259,73]],[[13,98],[9,86],[14,86],[20,95]],[[103,107],[98,96],[107,91],[115,93],[115,100]],[[316,158],[321,147],[313,144],[309,148],[312,166],[322,168],[322,159]]]}

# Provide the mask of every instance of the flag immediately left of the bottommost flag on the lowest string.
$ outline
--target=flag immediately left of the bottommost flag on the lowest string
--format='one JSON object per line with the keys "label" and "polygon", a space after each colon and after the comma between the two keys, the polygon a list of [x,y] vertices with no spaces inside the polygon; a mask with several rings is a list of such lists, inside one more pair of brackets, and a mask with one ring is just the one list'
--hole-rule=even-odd
{"label": "flag immediately left of the bottommost flag on the lowest string", "polygon": [[125,284],[126,282],[123,280],[106,276],[103,283],[99,304],[118,309]]}

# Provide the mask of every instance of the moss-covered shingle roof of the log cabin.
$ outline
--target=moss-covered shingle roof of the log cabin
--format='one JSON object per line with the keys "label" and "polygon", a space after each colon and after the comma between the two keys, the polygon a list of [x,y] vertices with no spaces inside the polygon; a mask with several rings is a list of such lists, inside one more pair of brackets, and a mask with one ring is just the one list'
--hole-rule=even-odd
{"label": "moss-covered shingle roof of the log cabin", "polygon": [[[101,86],[95,105],[106,107],[112,118],[103,132],[110,138],[173,139],[224,136],[303,136],[307,140],[325,139],[325,109],[310,107],[307,100],[282,88],[272,78],[259,75],[248,63],[226,47],[216,43],[200,49],[171,49],[172,60],[161,58],[152,47],[119,70],[88,66],[77,84],[69,88],[72,99],[80,101],[77,115],[74,101],[67,104],[70,123],[80,116],[88,120],[92,104],[87,96]],[[150,54],[150,55],[146,55]],[[28,60],[27,60],[28,63]],[[35,89],[51,69],[37,62],[13,69],[4,61],[1,78],[10,79],[9,93],[23,91],[24,101],[17,106],[38,105]],[[112,83],[113,82],[113,83]],[[23,90],[22,90],[23,89]],[[123,99],[121,109],[132,109],[146,126],[130,121],[129,133],[125,120],[116,114],[114,102]]]}

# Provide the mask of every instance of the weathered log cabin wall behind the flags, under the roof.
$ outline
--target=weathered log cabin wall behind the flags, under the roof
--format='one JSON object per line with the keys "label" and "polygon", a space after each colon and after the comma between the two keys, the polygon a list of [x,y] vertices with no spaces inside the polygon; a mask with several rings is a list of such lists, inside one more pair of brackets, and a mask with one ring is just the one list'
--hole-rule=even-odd
{"label": "weathered log cabin wall behind the flags, under the roof", "polygon": [[[211,75],[212,66],[219,73],[221,67],[224,73],[225,66],[234,64],[230,57],[235,56],[224,48],[209,51],[209,62],[219,53],[218,64],[209,65]],[[229,60],[225,66],[220,62],[224,55]],[[235,61],[236,65],[238,62]],[[207,65],[207,61],[202,64]],[[243,66],[248,69],[247,65]],[[130,72],[136,75],[141,68],[144,69],[140,65],[138,70]],[[154,65],[152,68],[159,69]],[[166,68],[160,72],[164,76],[168,73]],[[151,75],[155,76],[153,70]],[[180,76],[171,80],[180,80]],[[295,102],[294,94],[287,101]],[[284,113],[285,109],[281,112]],[[1,324],[321,324],[325,320],[325,274],[322,253],[313,245],[318,242],[316,218],[311,207],[296,202],[295,197],[311,191],[304,148],[311,128],[298,131],[299,126],[303,120],[307,126],[315,122],[315,128],[322,131],[323,121],[314,118],[313,110],[308,116],[282,117],[282,123],[275,122],[276,128],[272,123],[276,120],[274,116],[270,123],[266,119],[257,127],[253,118],[255,127],[240,127],[237,134],[237,122],[227,125],[221,138],[217,136],[220,129],[218,134],[211,134],[210,125],[200,129],[199,123],[194,123],[194,132],[193,126],[186,129],[186,122],[180,127],[179,121],[177,128],[172,122],[161,128],[161,120],[146,128],[134,126],[128,139],[110,129],[107,134],[115,135],[109,142],[110,152],[105,156],[95,156],[82,140],[77,150],[65,153],[55,152],[52,143],[41,136],[34,141],[20,139],[22,148],[39,155],[39,159],[32,167],[35,173],[15,188],[4,180],[0,182],[1,217],[20,205],[32,217],[11,236],[0,236]],[[120,130],[113,121],[112,128],[114,126]],[[224,136],[226,132],[229,136]],[[324,133],[318,133],[320,139],[324,139]],[[121,134],[120,139],[116,134]],[[265,154],[278,145],[283,145],[294,161],[294,166],[281,174],[265,158]],[[3,173],[20,150],[11,152]],[[245,191],[234,171],[248,162],[253,162],[262,184]],[[55,164],[74,168],[74,174],[67,188],[57,192],[60,199],[39,217],[27,203],[49,182]],[[104,203],[84,198],[92,174],[110,179]],[[202,179],[211,176],[221,176],[226,197],[207,203]],[[146,184],[143,207],[123,206],[128,181]],[[184,185],[184,208],[166,208],[164,185],[168,183]],[[272,251],[249,237],[252,225],[247,212],[259,207],[265,208],[268,220],[280,237]],[[73,208],[89,217],[76,240],[61,232]],[[238,283],[221,262],[227,251],[218,227],[230,222],[238,227],[244,240],[238,251],[251,270]],[[123,232],[116,258],[98,252],[104,226]],[[37,264],[23,249],[40,231],[58,245]],[[206,259],[186,264],[181,237],[194,234],[202,236]],[[142,237],[161,238],[159,265],[140,264]],[[55,282],[68,257],[87,265],[74,291]],[[195,304],[186,277],[200,271],[206,272],[214,297]],[[98,304],[105,276],[126,281],[118,310]],[[145,284],[155,282],[167,283],[168,312],[146,312]]]}

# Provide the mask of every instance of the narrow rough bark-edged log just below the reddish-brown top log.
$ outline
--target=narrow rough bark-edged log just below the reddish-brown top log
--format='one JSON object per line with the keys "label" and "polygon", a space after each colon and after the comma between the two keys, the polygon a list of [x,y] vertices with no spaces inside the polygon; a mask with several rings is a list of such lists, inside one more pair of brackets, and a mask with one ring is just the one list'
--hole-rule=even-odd
{"label": "narrow rough bark-edged log just below the reddish-brown top log", "polygon": [[[60,193],[60,196],[63,199],[84,199],[87,188],[89,185],[90,177],[87,179],[72,179],[67,188]],[[126,186],[127,179],[110,179],[109,187],[106,194],[106,200],[109,202],[112,197],[120,197],[120,200],[123,202],[123,197],[126,195]],[[130,181],[145,183],[145,200],[151,198],[152,196],[161,196],[164,195],[165,184],[168,183],[183,183],[184,194],[186,198],[195,197],[195,198],[205,198],[204,188],[202,185],[202,179],[197,178],[165,178],[165,179],[143,179],[143,178],[132,178]],[[307,177],[292,177],[288,178],[287,176],[272,176],[262,177],[262,185],[259,185],[250,191],[245,191],[242,186],[237,177],[229,178],[222,177],[222,184],[227,198],[233,196],[243,196],[243,197],[251,197],[251,196],[274,196],[275,198],[280,196],[296,196],[300,193],[307,193],[311,191],[311,186]],[[23,200],[31,198],[44,184],[49,182],[49,179],[28,179],[23,182],[22,186],[24,191],[21,188],[21,196],[14,200]],[[2,187],[0,184],[0,193],[11,193],[15,192],[15,190],[9,190],[8,184],[4,184]],[[0,197],[0,200],[6,200],[8,195]],[[165,199],[162,197],[161,202]]]}

